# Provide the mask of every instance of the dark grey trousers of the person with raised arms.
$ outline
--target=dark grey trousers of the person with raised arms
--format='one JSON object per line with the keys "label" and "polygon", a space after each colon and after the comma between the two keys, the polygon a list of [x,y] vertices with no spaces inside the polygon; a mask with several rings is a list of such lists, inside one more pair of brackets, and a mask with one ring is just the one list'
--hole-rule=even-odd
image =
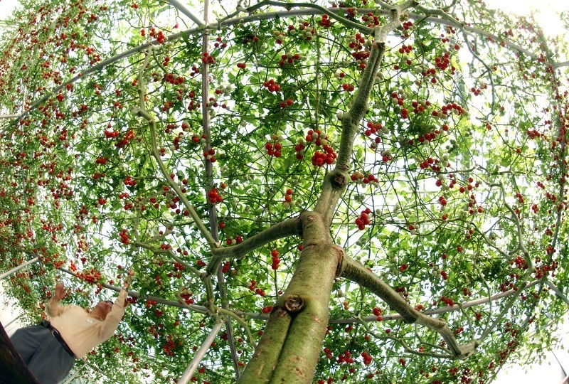
{"label": "dark grey trousers of the person with raised arms", "polygon": [[10,340],[41,384],[60,382],[75,363],[75,358],[70,356],[50,330],[43,326],[18,329]]}

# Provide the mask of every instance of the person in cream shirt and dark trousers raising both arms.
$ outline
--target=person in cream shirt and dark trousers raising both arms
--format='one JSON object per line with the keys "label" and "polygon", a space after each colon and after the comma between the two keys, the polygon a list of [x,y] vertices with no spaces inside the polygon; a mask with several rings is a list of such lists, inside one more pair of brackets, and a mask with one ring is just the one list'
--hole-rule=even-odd
{"label": "person in cream shirt and dark trousers raising both arms", "polygon": [[83,358],[115,334],[124,315],[127,288],[133,276],[130,270],[114,303],[101,301],[90,311],[76,305],[60,306],[67,289],[57,284],[55,295],[48,302],[49,321],[18,329],[12,335],[14,348],[41,384],[63,380],[76,358]]}

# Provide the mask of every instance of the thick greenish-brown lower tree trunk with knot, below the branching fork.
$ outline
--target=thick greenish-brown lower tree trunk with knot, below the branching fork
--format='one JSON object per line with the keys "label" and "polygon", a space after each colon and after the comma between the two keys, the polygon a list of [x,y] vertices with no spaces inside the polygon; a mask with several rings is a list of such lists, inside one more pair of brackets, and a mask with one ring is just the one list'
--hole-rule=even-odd
{"label": "thick greenish-brown lower tree trunk with knot, below the branching fork", "polygon": [[297,269],[238,383],[312,383],[344,250],[332,243],[318,213],[304,213],[302,228]]}

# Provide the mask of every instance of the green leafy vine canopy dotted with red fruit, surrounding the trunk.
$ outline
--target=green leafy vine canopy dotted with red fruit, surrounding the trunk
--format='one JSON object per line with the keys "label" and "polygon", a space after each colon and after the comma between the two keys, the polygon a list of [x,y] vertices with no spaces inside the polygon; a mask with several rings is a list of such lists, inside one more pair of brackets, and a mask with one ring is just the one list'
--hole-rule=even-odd
{"label": "green leafy vine canopy dotted with red fruit, surrounding the trunk", "polygon": [[[312,210],[334,167],[317,161],[333,161],[339,149],[341,119],[372,44],[314,9],[291,16],[278,7],[164,39],[184,18],[150,3],[28,1],[1,47],[0,105],[21,115],[0,122],[1,270],[42,260],[11,276],[11,294],[37,321],[58,267],[80,272],[63,279],[73,287],[70,301],[83,306],[97,301],[102,283],[119,285],[124,268],[137,273],[141,296],[115,338],[87,356],[84,374],[102,382],[116,380],[110,372],[179,378],[216,321],[151,299],[206,305],[206,287],[187,266],[203,271],[211,244],[171,181],[225,247]],[[565,48],[531,20],[456,3],[438,21],[418,10],[388,36],[331,233],[422,311],[542,280],[512,300],[441,314],[461,343],[490,335],[477,358],[452,361],[435,356],[445,350],[435,332],[358,321],[387,319],[390,309],[339,279],[316,380],[486,383],[520,345],[535,353],[554,342],[540,330],[555,328],[565,311],[543,279],[562,291],[569,281],[561,246],[567,79],[553,67]],[[263,16],[269,11],[277,13]],[[333,11],[363,26],[388,22],[373,1]],[[155,135],[138,114],[139,76]],[[226,289],[215,299],[247,313],[255,339],[300,245],[283,238],[223,262]],[[252,356],[245,331],[234,331],[216,339],[198,383],[233,380],[228,337],[237,368]]]}

